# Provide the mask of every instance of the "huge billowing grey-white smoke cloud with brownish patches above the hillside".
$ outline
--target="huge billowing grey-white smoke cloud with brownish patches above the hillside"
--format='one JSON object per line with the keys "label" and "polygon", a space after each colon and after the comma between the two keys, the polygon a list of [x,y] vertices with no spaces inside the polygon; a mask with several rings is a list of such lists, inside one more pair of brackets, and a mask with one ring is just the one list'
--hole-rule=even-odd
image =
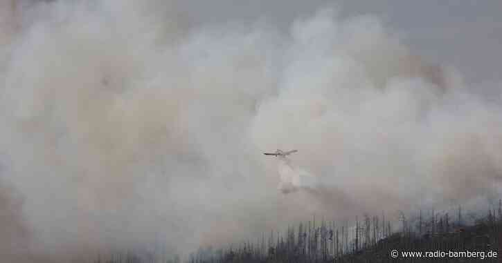
{"label": "huge billowing grey-white smoke cloud with brownish patches above the hillside", "polygon": [[[500,80],[464,81],[378,17],[320,6],[277,26],[193,19],[181,1],[17,3],[0,6],[9,259],[188,253],[314,214],[501,194]],[[276,148],[298,149],[291,171],[262,155]],[[298,171],[316,187],[278,191]]]}

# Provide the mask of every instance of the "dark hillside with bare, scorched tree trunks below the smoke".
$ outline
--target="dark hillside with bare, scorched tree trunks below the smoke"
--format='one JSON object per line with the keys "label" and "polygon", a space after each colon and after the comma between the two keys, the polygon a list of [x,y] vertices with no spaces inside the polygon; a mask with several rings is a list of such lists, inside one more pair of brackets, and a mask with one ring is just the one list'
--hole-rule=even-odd
{"label": "dark hillside with bare, scorched tree trunks below the smoke", "polygon": [[[302,222],[283,233],[271,232],[258,242],[243,242],[227,249],[199,249],[190,263],[230,262],[392,262],[397,251],[499,251],[502,244],[502,202],[478,219],[464,219],[462,208],[456,215],[419,211],[413,218],[399,213],[399,224],[382,215],[347,222]],[[470,217],[473,217],[470,214]],[[395,220],[394,220],[395,221]],[[469,221],[470,224],[465,222]],[[471,222],[472,221],[472,222]],[[393,229],[393,226],[396,229]],[[398,227],[396,227],[398,226]],[[435,257],[395,259],[405,262],[476,262],[481,258]],[[485,258],[483,262],[499,262]],[[397,261],[396,261],[397,262]]]}

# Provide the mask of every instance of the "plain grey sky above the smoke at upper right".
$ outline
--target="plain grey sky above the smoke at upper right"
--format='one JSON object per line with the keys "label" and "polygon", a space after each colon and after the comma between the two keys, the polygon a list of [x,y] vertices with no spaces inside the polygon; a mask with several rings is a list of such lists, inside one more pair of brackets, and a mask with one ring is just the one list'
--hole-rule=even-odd
{"label": "plain grey sky above the smoke at upper right", "polygon": [[420,55],[456,66],[469,82],[496,81],[502,71],[502,1],[498,0],[186,0],[179,5],[191,21],[201,23],[265,17],[281,25],[320,7],[335,6],[342,17],[376,15]]}

